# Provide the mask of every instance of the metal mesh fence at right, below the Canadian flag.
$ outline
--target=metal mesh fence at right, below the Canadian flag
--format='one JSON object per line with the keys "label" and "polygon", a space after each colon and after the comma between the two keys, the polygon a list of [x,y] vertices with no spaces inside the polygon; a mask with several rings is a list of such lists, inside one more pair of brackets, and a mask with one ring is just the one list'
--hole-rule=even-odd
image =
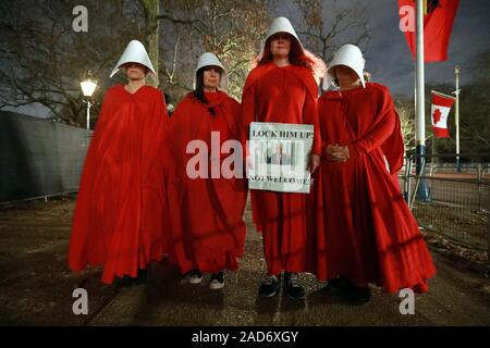
{"label": "metal mesh fence at right, below the Canadian flag", "polygon": [[[489,163],[456,165],[454,154],[425,156],[418,164],[415,160],[415,156],[406,159],[400,181],[419,225],[457,244],[490,251]],[[422,175],[416,174],[417,165]]]}

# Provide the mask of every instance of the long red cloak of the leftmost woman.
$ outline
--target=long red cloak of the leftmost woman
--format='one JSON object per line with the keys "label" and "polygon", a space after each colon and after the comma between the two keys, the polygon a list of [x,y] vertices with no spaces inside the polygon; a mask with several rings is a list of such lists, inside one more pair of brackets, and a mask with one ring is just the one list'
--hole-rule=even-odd
{"label": "long red cloak of the leftmost woman", "polygon": [[88,148],[70,240],[69,265],[103,265],[102,282],[136,276],[167,252],[163,95],[110,88]]}

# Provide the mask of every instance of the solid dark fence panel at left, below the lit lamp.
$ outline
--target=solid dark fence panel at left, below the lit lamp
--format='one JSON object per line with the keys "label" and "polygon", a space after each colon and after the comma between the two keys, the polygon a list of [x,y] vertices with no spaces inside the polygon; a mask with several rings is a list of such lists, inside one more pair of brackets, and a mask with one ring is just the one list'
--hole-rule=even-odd
{"label": "solid dark fence panel at left, below the lit lamp", "polygon": [[0,111],[0,202],[78,189],[91,132]]}

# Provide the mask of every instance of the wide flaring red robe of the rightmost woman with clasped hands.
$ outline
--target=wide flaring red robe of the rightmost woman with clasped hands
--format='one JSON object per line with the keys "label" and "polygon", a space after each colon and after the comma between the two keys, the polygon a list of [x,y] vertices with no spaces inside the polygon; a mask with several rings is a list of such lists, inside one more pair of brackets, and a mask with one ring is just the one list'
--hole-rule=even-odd
{"label": "wide flaring red robe of the rightmost woman with clasped hands", "polygon": [[[403,138],[388,88],[368,83],[328,91],[318,110],[323,149],[313,273],[319,279],[341,274],[358,286],[376,283],[388,293],[426,291],[436,268],[397,184]],[[347,162],[327,159],[327,146],[335,144],[348,145]]]}

